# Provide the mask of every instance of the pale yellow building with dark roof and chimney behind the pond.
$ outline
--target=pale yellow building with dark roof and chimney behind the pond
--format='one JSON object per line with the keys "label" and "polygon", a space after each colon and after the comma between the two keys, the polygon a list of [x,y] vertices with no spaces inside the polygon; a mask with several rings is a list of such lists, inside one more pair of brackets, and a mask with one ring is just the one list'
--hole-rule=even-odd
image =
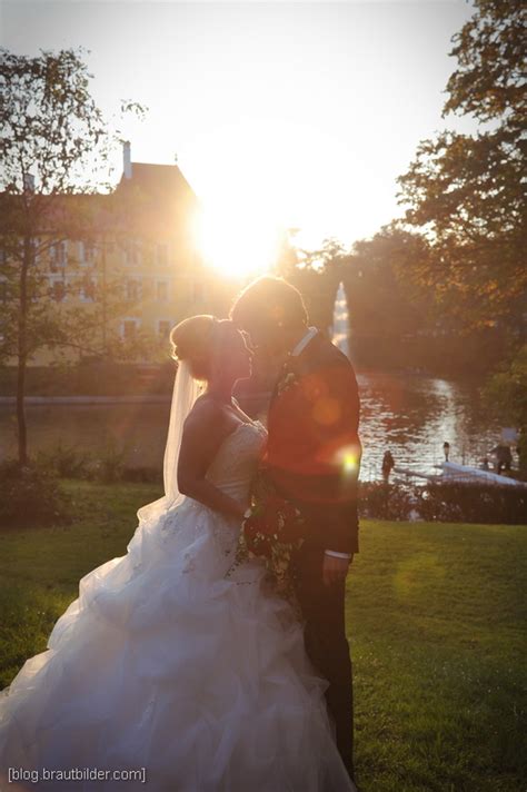
{"label": "pale yellow building with dark roof and chimney behind the pond", "polygon": [[[99,347],[102,341],[106,348],[105,338],[117,334],[125,341],[141,335],[155,349],[158,341],[158,360],[166,358],[171,326],[210,310],[207,271],[195,234],[199,201],[181,170],[177,165],[133,162],[127,142],[122,176],[111,194],[60,198],[36,239],[36,265],[49,286],[47,299],[79,316],[97,309]],[[53,218],[59,226],[59,214],[73,215],[73,205],[82,205],[86,232],[79,228],[70,238],[60,238]],[[49,245],[42,245],[47,239]],[[100,294],[105,300],[112,295],[108,317]],[[70,360],[87,356],[82,349],[67,353]],[[46,366],[53,357],[51,348],[41,348],[28,365]]]}

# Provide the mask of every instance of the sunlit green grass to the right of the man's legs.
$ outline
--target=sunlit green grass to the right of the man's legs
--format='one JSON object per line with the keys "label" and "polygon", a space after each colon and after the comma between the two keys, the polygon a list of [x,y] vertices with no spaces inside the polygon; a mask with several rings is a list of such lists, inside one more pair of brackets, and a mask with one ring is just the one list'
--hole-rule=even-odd
{"label": "sunlit green grass to the right of the man's legs", "polygon": [[347,595],[361,790],[524,789],[527,527],[361,526]]}

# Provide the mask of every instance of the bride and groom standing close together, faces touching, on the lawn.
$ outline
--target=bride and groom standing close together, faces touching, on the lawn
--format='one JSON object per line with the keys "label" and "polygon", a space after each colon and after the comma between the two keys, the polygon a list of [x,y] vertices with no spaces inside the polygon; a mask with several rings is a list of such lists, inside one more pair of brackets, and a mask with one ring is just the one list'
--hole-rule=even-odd
{"label": "bride and groom standing close together, faces touching, on the lawn", "polygon": [[[170,340],[165,495],[139,509],[127,554],[80,580],[48,650],[1,692],[0,789],[19,768],[9,789],[356,792],[352,366],[272,277],[230,319],[193,316]],[[258,348],[284,358],[267,428],[232,397]],[[255,481],[270,493],[259,511]],[[24,772],[38,782],[24,786]]]}

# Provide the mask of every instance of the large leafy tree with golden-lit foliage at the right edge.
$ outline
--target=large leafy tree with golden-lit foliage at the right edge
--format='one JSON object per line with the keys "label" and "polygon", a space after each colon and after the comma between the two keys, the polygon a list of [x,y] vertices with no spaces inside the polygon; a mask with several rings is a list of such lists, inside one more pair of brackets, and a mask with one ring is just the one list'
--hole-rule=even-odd
{"label": "large leafy tree with golden-lit foliage at the right edge", "polygon": [[418,227],[430,256],[418,274],[436,303],[467,329],[499,323],[513,338],[525,323],[527,270],[524,172],[526,7],[477,0],[454,37],[458,68],[447,85],[448,113],[471,115],[484,131],[445,130],[425,140],[398,179],[402,226]]}

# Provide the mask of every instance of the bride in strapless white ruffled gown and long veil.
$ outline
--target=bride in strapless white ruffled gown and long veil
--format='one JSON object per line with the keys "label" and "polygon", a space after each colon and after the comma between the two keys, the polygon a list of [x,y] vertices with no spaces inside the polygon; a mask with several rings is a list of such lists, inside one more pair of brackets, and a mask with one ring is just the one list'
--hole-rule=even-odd
{"label": "bride in strapless white ruffled gown and long veil", "polygon": [[250,352],[211,316],[171,341],[165,496],[1,692],[0,789],[355,792],[292,606],[235,564],[266,442],[231,396]]}

